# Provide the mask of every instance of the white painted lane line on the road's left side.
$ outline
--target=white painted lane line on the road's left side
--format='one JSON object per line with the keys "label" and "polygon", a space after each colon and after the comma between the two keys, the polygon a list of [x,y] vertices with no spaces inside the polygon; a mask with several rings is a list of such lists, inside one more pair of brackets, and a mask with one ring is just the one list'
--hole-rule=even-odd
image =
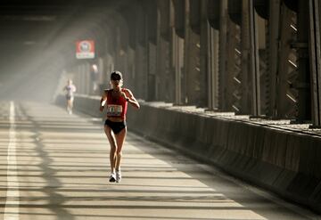
{"label": "white painted lane line on the road's left side", "polygon": [[19,182],[17,176],[16,132],[14,103],[10,102],[10,130],[7,156],[7,193],[4,207],[4,220],[19,219]]}

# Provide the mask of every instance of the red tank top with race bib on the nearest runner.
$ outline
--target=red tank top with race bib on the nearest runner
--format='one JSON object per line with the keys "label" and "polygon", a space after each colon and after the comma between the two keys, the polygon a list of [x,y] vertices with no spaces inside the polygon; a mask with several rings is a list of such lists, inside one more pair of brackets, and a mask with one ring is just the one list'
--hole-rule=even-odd
{"label": "red tank top with race bib on the nearest runner", "polygon": [[[125,92],[127,89],[122,88],[121,92]],[[128,109],[128,102],[123,96],[112,97],[112,89],[105,90],[107,95],[107,117],[126,119],[126,113]]]}

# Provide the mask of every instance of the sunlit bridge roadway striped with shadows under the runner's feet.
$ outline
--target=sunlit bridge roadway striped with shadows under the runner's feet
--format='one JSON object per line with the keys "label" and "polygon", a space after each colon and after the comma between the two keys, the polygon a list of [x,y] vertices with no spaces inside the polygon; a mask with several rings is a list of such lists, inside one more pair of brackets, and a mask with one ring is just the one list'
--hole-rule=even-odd
{"label": "sunlit bridge roadway striped with shadows under the runner's feet", "polygon": [[132,133],[109,183],[100,119],[0,103],[0,219],[321,219]]}

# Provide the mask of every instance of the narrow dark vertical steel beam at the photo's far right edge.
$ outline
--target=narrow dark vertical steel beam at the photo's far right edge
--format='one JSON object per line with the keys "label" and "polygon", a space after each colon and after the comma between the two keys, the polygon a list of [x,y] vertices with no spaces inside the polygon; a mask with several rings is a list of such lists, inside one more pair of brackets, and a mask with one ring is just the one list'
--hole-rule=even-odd
{"label": "narrow dark vertical steel beam at the photo's far right edge", "polygon": [[319,1],[309,0],[309,63],[311,71],[312,121],[321,126],[321,55]]}

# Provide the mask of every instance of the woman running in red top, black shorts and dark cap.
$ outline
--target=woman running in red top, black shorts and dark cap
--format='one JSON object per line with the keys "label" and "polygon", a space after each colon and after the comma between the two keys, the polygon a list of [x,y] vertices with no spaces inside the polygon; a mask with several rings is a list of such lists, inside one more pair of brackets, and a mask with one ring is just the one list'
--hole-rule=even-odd
{"label": "woman running in red top, black shorts and dark cap", "polygon": [[121,88],[123,78],[119,71],[111,72],[111,89],[105,89],[101,99],[100,110],[107,108],[107,118],[104,123],[104,132],[111,144],[111,183],[119,183],[121,180],[120,160],[122,146],[127,133],[126,113],[128,103],[139,109],[139,103],[132,92],[127,88]]}

